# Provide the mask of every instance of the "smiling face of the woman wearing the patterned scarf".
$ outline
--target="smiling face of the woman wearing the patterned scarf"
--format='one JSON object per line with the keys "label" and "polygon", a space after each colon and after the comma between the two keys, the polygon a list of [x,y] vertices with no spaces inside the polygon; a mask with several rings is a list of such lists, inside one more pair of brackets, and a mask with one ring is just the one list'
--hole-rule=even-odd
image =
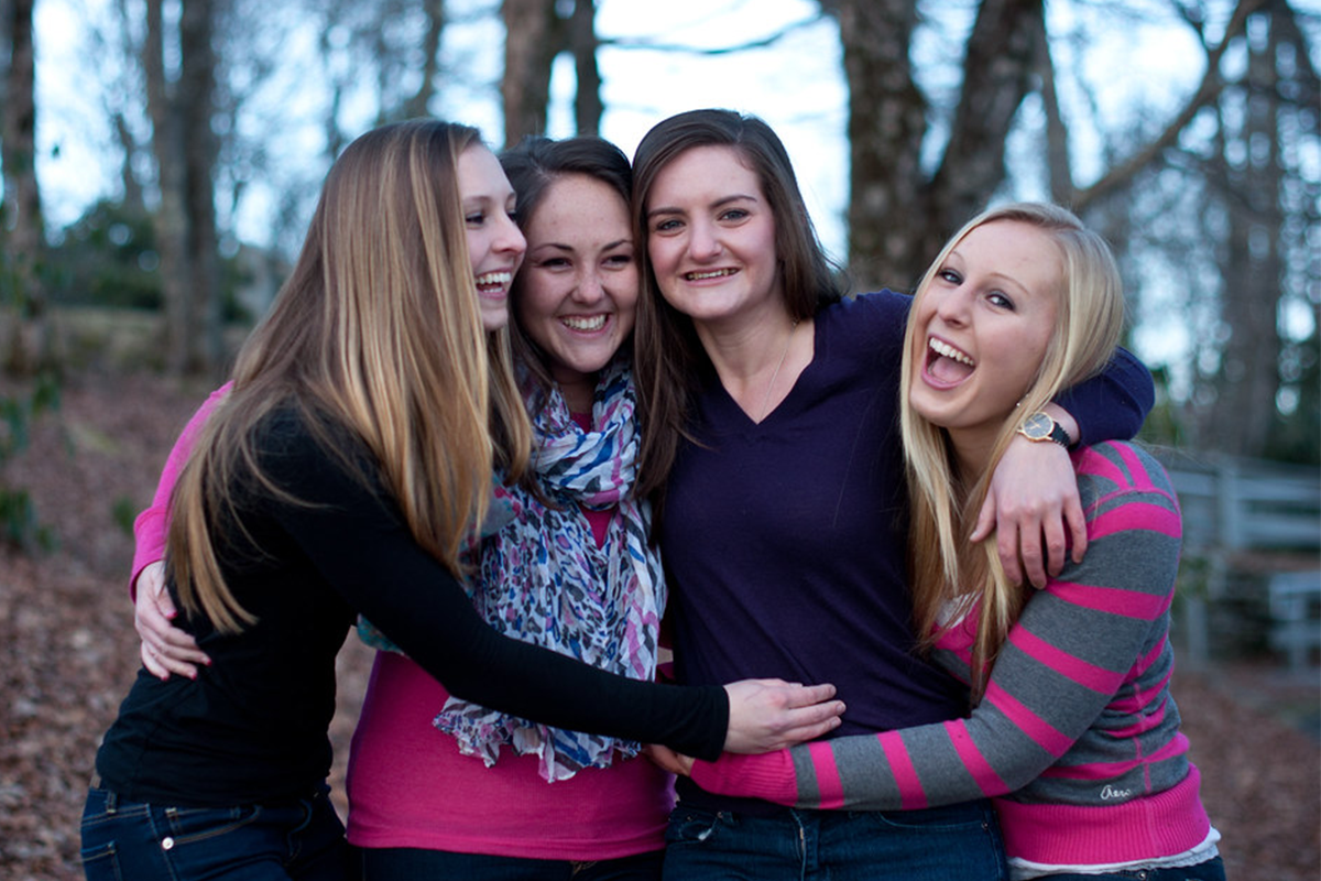
{"label": "smiling face of the woman wearing the patterned scarf", "polygon": [[575,391],[585,388],[590,409],[596,374],[633,333],[638,264],[629,206],[602,181],[564,174],[526,229],[527,262],[514,292],[519,326],[571,408],[581,412]]}

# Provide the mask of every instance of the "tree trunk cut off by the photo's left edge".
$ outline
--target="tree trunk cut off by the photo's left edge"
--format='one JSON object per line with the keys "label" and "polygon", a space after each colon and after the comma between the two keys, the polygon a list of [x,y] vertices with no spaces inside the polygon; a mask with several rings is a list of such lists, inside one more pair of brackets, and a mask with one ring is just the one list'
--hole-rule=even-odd
{"label": "tree trunk cut off by the photo's left edge", "polygon": [[13,325],[5,369],[30,374],[54,367],[50,324],[41,280],[45,235],[41,189],[37,186],[36,57],[32,46],[34,0],[7,0],[5,30],[9,33],[9,63],[5,69],[3,116],[5,259],[13,285]]}

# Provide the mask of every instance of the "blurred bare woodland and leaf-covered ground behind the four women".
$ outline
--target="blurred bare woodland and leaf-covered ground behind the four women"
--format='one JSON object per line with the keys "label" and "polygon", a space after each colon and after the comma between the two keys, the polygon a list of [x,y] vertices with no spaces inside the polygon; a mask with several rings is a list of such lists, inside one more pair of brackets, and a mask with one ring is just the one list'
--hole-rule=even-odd
{"label": "blurred bare woodland and leaf-covered ground behind the four women", "polygon": [[[840,132],[830,160],[790,148],[801,178],[840,166],[827,221],[851,289],[910,288],[1001,199],[1049,198],[1111,242],[1128,345],[1159,387],[1143,439],[1192,462],[1174,693],[1192,696],[1231,877],[1317,877],[1321,0],[709,0],[678,36],[649,32],[660,5],[0,0],[0,881],[79,877],[91,756],[136,668],[132,516],[277,291],[338,152],[420,115],[480,123],[494,147],[605,133],[672,103],[655,98],[675,88],[664,71],[771,55],[781,85],[737,108],[770,118],[798,74],[820,104],[804,123]],[[1153,26],[1168,41],[1137,38]],[[789,49],[806,33],[811,59]],[[58,66],[38,52],[53,38]],[[1119,48],[1098,59],[1103,38]],[[1176,54],[1177,81],[1161,73]],[[812,81],[822,65],[831,83]],[[1148,87],[1116,111],[1120,73]],[[98,161],[55,161],[73,155],[44,136],[70,114],[38,98],[55,81]],[[674,110],[723,103],[709,94]],[[71,218],[44,172],[70,161],[96,194]],[[1226,474],[1254,477],[1227,491]],[[1207,667],[1231,645],[1264,666]],[[341,750],[367,663],[346,655]]]}

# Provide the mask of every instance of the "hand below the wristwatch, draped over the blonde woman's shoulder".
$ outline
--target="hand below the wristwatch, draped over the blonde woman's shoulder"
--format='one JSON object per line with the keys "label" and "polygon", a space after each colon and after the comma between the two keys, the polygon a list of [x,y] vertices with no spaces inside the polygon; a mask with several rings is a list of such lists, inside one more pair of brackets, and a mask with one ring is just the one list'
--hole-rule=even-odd
{"label": "hand below the wristwatch, draped over the blonde woman's shoulder", "polygon": [[[996,531],[996,549],[1005,576],[1036,588],[1065,567],[1066,531],[1073,560],[1087,551],[1087,520],[1069,452],[1055,442],[1015,437],[995,469],[972,540]],[[1045,552],[1042,552],[1045,543]]]}

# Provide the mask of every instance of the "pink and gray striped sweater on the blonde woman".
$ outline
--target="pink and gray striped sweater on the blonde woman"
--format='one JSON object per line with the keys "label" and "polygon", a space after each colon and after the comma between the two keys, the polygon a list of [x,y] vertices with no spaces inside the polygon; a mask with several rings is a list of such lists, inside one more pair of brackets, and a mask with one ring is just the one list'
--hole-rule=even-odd
{"label": "pink and gray striped sweater on the blonde woman", "polygon": [[[968,719],[696,762],[704,790],[902,810],[993,796],[1011,857],[1112,864],[1184,853],[1210,823],[1169,693],[1178,503],[1136,446],[1074,454],[1087,553],[1036,593]],[[975,616],[975,613],[974,613]],[[964,682],[975,621],[933,658]],[[848,695],[840,695],[848,700]]]}

